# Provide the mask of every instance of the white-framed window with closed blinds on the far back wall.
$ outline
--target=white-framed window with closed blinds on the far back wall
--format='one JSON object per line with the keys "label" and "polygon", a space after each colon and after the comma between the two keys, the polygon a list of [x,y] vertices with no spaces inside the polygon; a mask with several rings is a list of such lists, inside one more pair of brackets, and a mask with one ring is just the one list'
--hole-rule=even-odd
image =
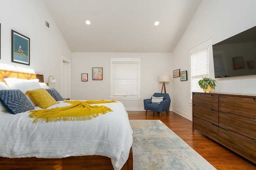
{"label": "white-framed window with closed blinds on the far back wall", "polygon": [[140,100],[139,58],[110,58],[110,98]]}

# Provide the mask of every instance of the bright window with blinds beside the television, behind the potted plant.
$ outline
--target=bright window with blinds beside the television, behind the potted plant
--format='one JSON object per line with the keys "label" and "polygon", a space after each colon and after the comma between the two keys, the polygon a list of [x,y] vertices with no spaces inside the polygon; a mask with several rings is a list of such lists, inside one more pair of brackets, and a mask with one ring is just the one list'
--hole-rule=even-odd
{"label": "bright window with blinds beside the television, behind the potted plant", "polygon": [[202,77],[209,77],[209,47],[202,49],[190,55],[191,59],[191,93],[190,99],[192,100],[192,92],[203,92],[198,85],[198,81]]}

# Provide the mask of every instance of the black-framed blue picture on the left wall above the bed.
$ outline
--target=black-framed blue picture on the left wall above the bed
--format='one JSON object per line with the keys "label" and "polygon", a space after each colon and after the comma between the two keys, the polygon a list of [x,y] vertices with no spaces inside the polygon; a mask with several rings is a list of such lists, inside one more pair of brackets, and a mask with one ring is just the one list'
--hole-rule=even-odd
{"label": "black-framed blue picture on the left wall above the bed", "polygon": [[30,38],[12,30],[12,62],[30,65]]}

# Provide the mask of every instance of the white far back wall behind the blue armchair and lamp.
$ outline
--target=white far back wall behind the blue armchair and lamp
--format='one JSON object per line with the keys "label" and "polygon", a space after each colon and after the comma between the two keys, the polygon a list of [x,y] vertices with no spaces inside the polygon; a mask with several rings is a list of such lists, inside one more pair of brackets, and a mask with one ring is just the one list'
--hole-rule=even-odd
{"label": "white far back wall behind the blue armchair and lamp", "polygon": [[[166,93],[172,99],[172,53],[72,53],[72,100],[109,100],[110,57],[141,59],[141,100],[120,100],[126,110],[144,110],[143,100],[161,92],[163,74],[171,77]],[[92,80],[92,67],[103,68],[103,80]],[[81,81],[82,73],[88,73],[88,82]]]}

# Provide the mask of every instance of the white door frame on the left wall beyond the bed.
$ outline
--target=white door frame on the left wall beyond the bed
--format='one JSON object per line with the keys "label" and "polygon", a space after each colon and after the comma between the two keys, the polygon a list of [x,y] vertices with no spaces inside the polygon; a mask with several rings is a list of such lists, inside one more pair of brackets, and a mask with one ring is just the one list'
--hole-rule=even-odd
{"label": "white door frame on the left wall beyond the bed", "polygon": [[72,59],[64,56],[64,55],[61,55],[61,75],[60,75],[60,80],[61,80],[61,86],[60,86],[60,89],[61,89],[61,93],[62,93],[62,71],[63,71],[63,65],[62,63],[63,62],[66,62],[68,63],[68,98],[71,99],[71,65],[72,65]]}

